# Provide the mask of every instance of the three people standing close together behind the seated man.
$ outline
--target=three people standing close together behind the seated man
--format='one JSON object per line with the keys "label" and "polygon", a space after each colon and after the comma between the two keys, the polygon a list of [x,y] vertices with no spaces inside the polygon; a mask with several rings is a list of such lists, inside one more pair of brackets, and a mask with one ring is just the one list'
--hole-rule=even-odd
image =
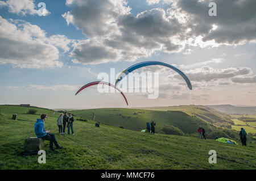
{"label": "three people standing close together behind the seated man", "polygon": [[67,125],[68,134],[70,134],[70,128],[71,128],[71,132],[74,135],[73,122],[74,122],[74,117],[72,116],[72,113],[65,112],[64,115],[63,113],[60,113],[60,116],[57,119],[57,126],[59,127],[59,133],[65,134],[65,128]]}

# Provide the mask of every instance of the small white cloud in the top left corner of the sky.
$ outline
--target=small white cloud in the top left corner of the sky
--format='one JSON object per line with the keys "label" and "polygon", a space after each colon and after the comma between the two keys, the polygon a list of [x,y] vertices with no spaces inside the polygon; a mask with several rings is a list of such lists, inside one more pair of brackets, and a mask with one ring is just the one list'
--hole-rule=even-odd
{"label": "small white cloud in the top left corner of the sky", "polygon": [[[34,0],[7,0],[5,1],[0,1],[0,7],[1,6],[7,6],[9,9],[9,12],[18,14],[18,15],[35,15],[38,14],[38,10],[36,10],[36,6],[34,4]],[[51,14],[46,9],[46,15]]]}

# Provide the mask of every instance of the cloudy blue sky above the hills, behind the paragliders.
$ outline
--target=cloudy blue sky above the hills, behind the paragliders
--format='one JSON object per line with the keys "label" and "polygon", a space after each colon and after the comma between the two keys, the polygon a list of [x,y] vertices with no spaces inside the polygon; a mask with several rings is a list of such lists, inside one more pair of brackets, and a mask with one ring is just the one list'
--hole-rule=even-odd
{"label": "cloudy blue sky above the hills, behind the paragliders", "polygon": [[[40,2],[45,16],[40,16]],[[216,16],[209,3],[216,3]],[[255,0],[0,1],[0,104],[46,108],[256,106]],[[86,83],[142,61],[159,96],[100,93]],[[109,80],[111,82],[113,80]]]}

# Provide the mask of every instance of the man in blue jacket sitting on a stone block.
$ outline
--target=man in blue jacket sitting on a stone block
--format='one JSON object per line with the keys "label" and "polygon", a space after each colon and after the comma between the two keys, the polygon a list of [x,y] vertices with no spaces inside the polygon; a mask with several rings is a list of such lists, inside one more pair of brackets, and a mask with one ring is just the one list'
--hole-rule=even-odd
{"label": "man in blue jacket sitting on a stone block", "polygon": [[35,123],[35,134],[38,138],[42,138],[43,140],[48,140],[50,141],[50,150],[54,150],[53,149],[53,143],[55,144],[56,146],[56,150],[59,150],[59,149],[63,149],[63,147],[61,147],[56,138],[55,138],[55,134],[50,134],[49,132],[50,131],[46,131],[46,129],[44,129],[44,121],[46,121],[47,119],[47,114],[42,114],[41,115],[41,119],[37,119],[36,120],[36,123]]}

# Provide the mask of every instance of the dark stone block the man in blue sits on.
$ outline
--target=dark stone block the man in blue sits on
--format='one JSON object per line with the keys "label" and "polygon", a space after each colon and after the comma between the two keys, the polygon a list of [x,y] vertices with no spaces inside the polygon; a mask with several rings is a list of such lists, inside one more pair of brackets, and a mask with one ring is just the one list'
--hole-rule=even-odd
{"label": "dark stone block the man in blue sits on", "polygon": [[25,151],[38,151],[44,149],[44,140],[42,138],[30,137],[25,140]]}

